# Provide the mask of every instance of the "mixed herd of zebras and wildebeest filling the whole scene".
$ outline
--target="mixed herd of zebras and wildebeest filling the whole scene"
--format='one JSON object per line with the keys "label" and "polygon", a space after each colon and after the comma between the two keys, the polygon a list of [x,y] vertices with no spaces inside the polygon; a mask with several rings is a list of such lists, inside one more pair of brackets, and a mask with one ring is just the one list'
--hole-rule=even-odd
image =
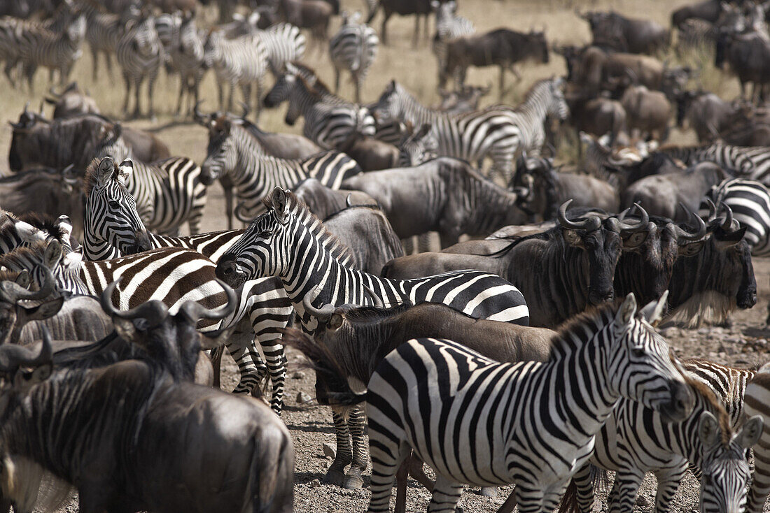
{"label": "mixed herd of zebras and wildebeest filling the whole scene", "polygon": [[[770,366],[680,361],[659,328],[729,325],[757,303],[770,5],[705,0],[670,26],[578,8],[578,46],[477,32],[457,0],[201,3],[0,5],[3,87],[37,99],[39,67],[57,82],[51,118],[8,120],[0,178],[3,511],[55,511],[73,489],[94,513],[293,511],[286,347],[332,410],[323,483],[370,488],[369,511],[390,511],[393,485],[406,511],[412,476],[428,511],[514,485],[498,511],[588,512],[606,471],[609,511],[634,510],[647,472],[670,511],[688,469],[701,511],[763,511]],[[434,53],[440,105],[397,76],[361,101],[393,14]],[[69,83],[84,45],[94,76],[114,57],[124,115],[154,116],[161,69],[178,76],[203,162]],[[333,91],[311,65],[326,48]],[[554,54],[564,76],[519,84]],[[740,98],[699,87],[692,55]],[[500,102],[480,107],[492,87],[469,77],[489,66]],[[279,107],[302,135],[259,125]],[[668,143],[675,127],[698,145]],[[221,231],[203,232],[214,182]]]}

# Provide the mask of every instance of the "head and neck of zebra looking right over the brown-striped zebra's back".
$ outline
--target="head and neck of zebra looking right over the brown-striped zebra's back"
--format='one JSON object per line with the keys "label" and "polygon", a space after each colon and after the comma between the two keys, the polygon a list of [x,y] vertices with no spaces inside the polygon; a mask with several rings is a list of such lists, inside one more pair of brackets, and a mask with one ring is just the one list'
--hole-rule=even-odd
{"label": "head and neck of zebra looking right over the brown-striped zebra's back", "polygon": [[133,162],[95,159],[85,172],[85,251],[89,259],[115,258],[150,249],[136,200],[126,188]]}

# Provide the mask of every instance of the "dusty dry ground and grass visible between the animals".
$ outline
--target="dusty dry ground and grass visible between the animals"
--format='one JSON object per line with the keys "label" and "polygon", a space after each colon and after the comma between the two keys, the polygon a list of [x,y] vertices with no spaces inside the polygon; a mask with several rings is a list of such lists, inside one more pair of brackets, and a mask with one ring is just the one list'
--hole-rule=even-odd
{"label": "dusty dry ground and grass visible between the animals", "polygon": [[[659,2],[653,0],[624,0],[622,2],[608,2],[599,0],[594,2],[563,2],[560,0],[547,0],[544,2],[500,2],[498,0],[460,0],[460,14],[472,19],[479,30],[495,28],[497,26],[509,26],[517,29],[545,28],[547,37],[559,43],[588,42],[589,32],[586,24],[574,15],[573,8],[608,8],[612,7],[628,15],[654,18],[659,22],[668,24],[668,16],[671,9],[681,5],[682,0],[675,2]],[[343,0],[343,7],[349,9],[363,8],[360,0]],[[204,16],[213,19],[214,13],[207,11]],[[374,26],[379,30],[381,16],[377,15]],[[333,22],[332,32],[336,30],[338,22]],[[431,22],[432,25],[432,22]],[[370,73],[370,78],[363,89],[363,98],[373,101],[382,91],[390,78],[397,78],[407,85],[426,103],[437,100],[435,92],[436,72],[435,60],[425,42],[413,50],[410,45],[410,37],[413,30],[412,18],[399,18],[393,16],[389,24],[391,45],[380,48],[380,55]],[[432,30],[432,28],[431,28]],[[310,57],[306,59],[311,65],[319,69],[320,75],[331,82],[333,72],[330,68],[326,52],[319,54],[310,51]],[[122,105],[123,85],[122,78],[115,74],[110,77],[99,69],[98,78],[91,78],[92,62],[89,52],[86,51],[82,60],[75,66],[72,77],[81,85],[89,89],[93,96],[108,115],[120,117]],[[507,77],[508,90],[504,94],[504,101],[517,103],[526,92],[527,87],[535,80],[555,74],[564,73],[563,59],[552,55],[551,63],[547,66],[524,68],[524,81],[513,85],[512,78]],[[702,84],[711,90],[718,91],[726,98],[735,96],[737,85],[735,78],[728,78],[721,73],[714,72],[706,63],[701,74]],[[268,82],[272,83],[271,80]],[[494,82],[491,98],[485,98],[484,102],[497,101],[497,71],[496,70],[471,70],[469,83],[486,84]],[[695,84],[698,85],[698,84]],[[47,91],[47,73],[39,72],[36,82],[36,94],[22,92],[8,88],[5,79],[0,79],[0,115],[3,120],[15,120],[24,103],[32,101],[32,105],[39,105],[43,92]],[[167,142],[174,155],[186,155],[202,162],[206,152],[206,132],[197,125],[192,125],[172,116],[173,105],[176,104],[176,90],[178,88],[176,78],[166,78],[164,74],[159,78],[156,86],[156,112],[158,119],[132,121],[130,124],[141,128],[150,128]],[[343,82],[342,95],[350,97],[352,86]],[[203,98],[206,103],[203,109],[216,107],[216,92],[213,77],[209,74],[203,85]],[[146,99],[143,104],[146,105]],[[145,107],[146,108],[146,107]],[[272,112],[264,112],[260,119],[264,128],[275,131],[298,132],[300,125],[290,128],[283,123],[283,108]],[[6,123],[0,125],[0,148],[5,152],[10,142],[11,130]],[[674,131],[674,142],[691,142],[692,135]],[[562,155],[571,155],[571,149],[563,150]],[[7,162],[2,159],[0,172],[7,172]],[[209,190],[209,206],[203,221],[204,230],[222,229],[224,226],[223,198],[219,185],[214,185]],[[719,363],[749,366],[759,365],[770,360],[770,330],[764,328],[766,308],[770,301],[770,260],[758,259],[755,261],[755,273],[759,284],[759,302],[755,308],[748,311],[740,311],[733,318],[733,325],[729,329],[702,328],[699,330],[681,330],[668,328],[664,331],[676,349],[678,355],[684,358],[702,357],[709,358]],[[330,459],[323,456],[322,445],[328,443],[334,445],[333,428],[330,412],[321,408],[314,402],[298,404],[297,395],[304,392],[313,396],[313,372],[301,366],[302,357],[295,352],[289,352],[290,371],[286,383],[286,410],[283,420],[292,432],[296,448],[296,501],[295,511],[299,513],[320,513],[322,511],[364,511],[368,504],[369,492],[365,488],[358,491],[345,491],[328,485],[314,484],[316,479],[323,478]],[[235,385],[236,368],[232,360],[226,361],[225,387],[232,388]],[[367,473],[368,475],[368,473]],[[367,478],[368,479],[368,478]],[[367,481],[368,486],[368,481]],[[639,502],[639,511],[651,511],[654,501],[654,480],[648,478],[644,482],[640,495],[646,499]],[[460,499],[460,506],[465,511],[496,511],[500,503],[507,497],[507,491],[500,493],[497,499],[481,497],[469,491]],[[409,500],[407,511],[425,511],[429,496],[415,482],[410,482]],[[696,511],[698,505],[698,483],[688,476],[682,484],[671,511]],[[601,503],[604,508],[604,503]],[[76,510],[76,503],[70,502],[66,510]],[[765,508],[770,511],[770,508]]]}

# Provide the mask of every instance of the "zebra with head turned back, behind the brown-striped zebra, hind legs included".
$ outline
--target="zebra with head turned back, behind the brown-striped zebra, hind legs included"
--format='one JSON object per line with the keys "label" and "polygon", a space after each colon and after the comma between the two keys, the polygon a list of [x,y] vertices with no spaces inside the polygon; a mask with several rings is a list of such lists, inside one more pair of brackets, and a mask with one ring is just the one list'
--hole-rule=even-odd
{"label": "zebra with head turned back, behind the brown-striped zebra, hind legs included", "polygon": [[[243,235],[243,230],[189,237],[147,233],[136,211],[136,201],[126,188],[126,179],[130,174],[130,161],[115,165],[109,157],[95,159],[86,172],[83,253],[88,260],[108,260],[136,252],[139,234],[147,236],[149,248],[184,248],[199,252],[210,261],[217,261]],[[226,344],[241,375],[233,392],[251,393],[268,374],[273,383],[271,405],[280,414],[286,367],[283,346],[276,341],[281,337],[280,328],[289,324],[293,308],[280,281],[272,278],[249,281],[240,292],[239,310],[229,322],[235,325],[240,319],[249,318],[253,332],[247,341],[233,341],[231,338]],[[266,365],[253,344],[255,336],[265,353]]]}

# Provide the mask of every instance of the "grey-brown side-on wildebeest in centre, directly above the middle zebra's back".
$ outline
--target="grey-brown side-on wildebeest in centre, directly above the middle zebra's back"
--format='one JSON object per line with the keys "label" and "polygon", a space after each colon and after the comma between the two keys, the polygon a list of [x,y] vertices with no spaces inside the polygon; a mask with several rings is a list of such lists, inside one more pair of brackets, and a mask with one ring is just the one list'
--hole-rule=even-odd
{"label": "grey-brown side-on wildebeest in centre, directly above the middle zebra's back", "polygon": [[342,188],[374,198],[400,238],[439,232],[442,247],[455,244],[460,235],[487,235],[524,219],[517,194],[456,158],[364,173],[347,178]]}

